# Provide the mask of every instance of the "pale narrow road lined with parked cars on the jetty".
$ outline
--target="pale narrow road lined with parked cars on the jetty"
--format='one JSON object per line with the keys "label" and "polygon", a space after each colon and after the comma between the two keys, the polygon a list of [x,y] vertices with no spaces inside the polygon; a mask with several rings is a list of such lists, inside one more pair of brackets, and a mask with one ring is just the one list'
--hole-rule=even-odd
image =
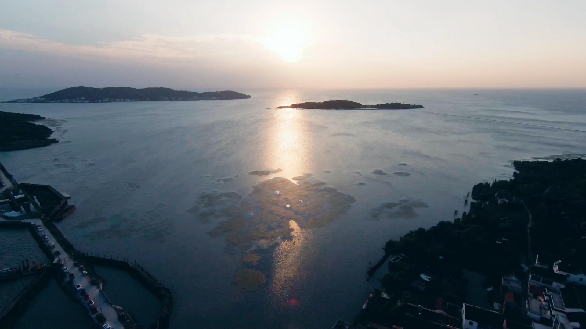
{"label": "pale narrow road lined with parked cars on the jetty", "polygon": [[[43,222],[41,220],[23,220],[23,222],[33,222],[34,224],[40,225],[40,227],[43,228],[43,231],[37,232],[37,233],[39,234],[40,237],[42,237],[43,234],[46,234],[47,238],[49,238],[49,242],[53,242],[53,244],[55,244],[55,248],[52,249],[53,252],[59,251],[61,253],[57,257],[59,257],[61,259],[61,261],[63,261],[64,265],[67,266],[69,273],[73,273],[75,275],[75,278],[73,279],[74,283],[71,283],[71,284],[72,285],[79,284],[79,285],[81,285],[81,287],[83,289],[86,289],[86,291],[90,295],[91,299],[94,301],[94,303],[96,303],[97,309],[100,310],[101,313],[106,318],[105,323],[110,324],[112,326],[112,328],[114,328],[114,329],[124,328],[122,323],[120,321],[118,321],[118,314],[116,313],[116,310],[114,310],[114,307],[108,301],[108,297],[106,297],[105,294],[100,289],[98,289],[97,286],[91,285],[91,283],[90,283],[91,277],[81,275],[81,271],[79,270],[79,268],[77,268],[76,266],[73,266],[73,259],[71,259],[70,256],[57,243],[56,239],[53,237],[51,232],[49,232],[49,230],[47,230],[45,225],[43,225]],[[90,308],[87,306],[85,301],[83,301],[83,299],[81,299],[81,297],[79,297],[79,299],[80,299],[81,303],[83,303],[84,306],[86,307],[88,313],[90,313]],[[90,315],[91,315],[91,313],[90,313]]]}

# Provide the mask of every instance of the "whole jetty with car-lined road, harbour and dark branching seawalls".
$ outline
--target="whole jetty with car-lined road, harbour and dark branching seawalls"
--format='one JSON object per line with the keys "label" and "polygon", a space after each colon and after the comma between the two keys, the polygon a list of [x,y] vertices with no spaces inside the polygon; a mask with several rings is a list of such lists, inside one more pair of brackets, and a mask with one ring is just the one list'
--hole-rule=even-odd
{"label": "whole jetty with car-lined road, harbour and dark branching seawalls", "polygon": [[[11,327],[24,313],[30,300],[46,286],[48,278],[53,275],[67,294],[84,305],[91,320],[100,328],[105,324],[114,329],[141,328],[130,313],[113,304],[102,290],[102,283],[93,269],[94,263],[100,263],[128,270],[161,300],[162,307],[156,328],[168,328],[173,307],[171,291],[137,262],[130,265],[127,259],[104,259],[75,249],[53,222],[62,218],[67,208],[67,197],[62,193],[47,185],[19,184],[0,163],[0,229],[29,229],[47,258],[52,261],[50,265],[35,266],[40,275],[2,310],[0,327]],[[7,279],[12,279],[12,276],[18,279],[18,270],[22,276],[23,270],[30,271],[31,268],[28,263],[25,268],[23,263],[23,269],[6,269],[2,274]],[[93,303],[88,304],[87,296]]]}

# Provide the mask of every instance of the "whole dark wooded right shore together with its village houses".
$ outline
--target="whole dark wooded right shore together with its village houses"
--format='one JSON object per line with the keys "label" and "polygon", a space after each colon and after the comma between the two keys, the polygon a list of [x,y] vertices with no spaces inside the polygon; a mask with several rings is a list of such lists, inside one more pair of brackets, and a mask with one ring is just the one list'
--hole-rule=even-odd
{"label": "whole dark wooded right shore together with its village houses", "polygon": [[586,160],[513,166],[513,179],[473,187],[468,213],[386,242],[368,275],[387,259],[388,272],[355,325],[472,328],[468,321],[486,321],[473,319],[475,311],[492,328],[555,328],[568,319],[550,311],[550,294],[566,309],[577,298],[586,306]]}

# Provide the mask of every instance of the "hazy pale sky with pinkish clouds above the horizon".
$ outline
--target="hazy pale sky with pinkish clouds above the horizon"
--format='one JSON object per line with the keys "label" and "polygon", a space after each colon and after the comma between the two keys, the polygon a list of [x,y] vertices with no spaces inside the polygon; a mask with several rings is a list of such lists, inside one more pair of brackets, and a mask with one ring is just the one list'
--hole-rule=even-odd
{"label": "hazy pale sky with pinkish clouds above the horizon", "polygon": [[2,0],[0,87],[586,87],[586,1]]}

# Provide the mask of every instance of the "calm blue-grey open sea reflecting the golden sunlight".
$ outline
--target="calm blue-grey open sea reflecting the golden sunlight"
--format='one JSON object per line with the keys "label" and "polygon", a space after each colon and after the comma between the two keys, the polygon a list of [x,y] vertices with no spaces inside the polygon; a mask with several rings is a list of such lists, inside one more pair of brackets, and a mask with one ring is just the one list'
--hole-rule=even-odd
{"label": "calm blue-grey open sea reflecting the golden sunlight", "polygon": [[[58,225],[77,248],[166,283],[173,328],[327,328],[378,285],[387,239],[453,219],[511,160],[586,154],[586,90],[238,91],[253,98],[0,104],[60,141],[0,161],[73,196]],[[337,99],[425,108],[275,109]]]}

